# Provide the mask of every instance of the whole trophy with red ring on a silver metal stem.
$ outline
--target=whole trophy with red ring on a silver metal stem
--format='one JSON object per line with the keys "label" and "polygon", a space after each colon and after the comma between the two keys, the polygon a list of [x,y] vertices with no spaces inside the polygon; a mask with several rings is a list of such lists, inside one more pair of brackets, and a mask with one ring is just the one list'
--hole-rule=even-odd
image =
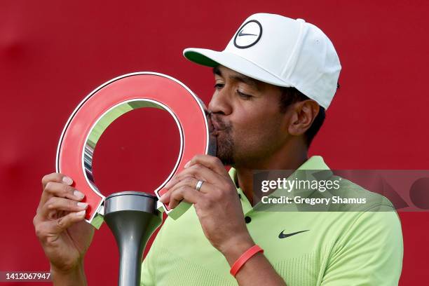
{"label": "whole trophy with red ring on a silver metal stem", "polygon": [[[175,119],[180,135],[177,161],[170,175],[154,190],[156,196],[121,191],[104,197],[93,177],[93,153],[104,130],[119,116],[139,108],[157,108]],[[177,219],[191,205],[181,202],[173,210],[158,201],[163,186],[184,169],[196,154],[216,154],[209,134],[209,118],[203,102],[183,83],[165,74],[137,72],[102,84],[74,109],[57,148],[56,170],[74,179],[85,193],[86,222],[99,229],[106,221],[120,252],[118,285],[139,285],[144,247],[162,222],[161,212]]]}

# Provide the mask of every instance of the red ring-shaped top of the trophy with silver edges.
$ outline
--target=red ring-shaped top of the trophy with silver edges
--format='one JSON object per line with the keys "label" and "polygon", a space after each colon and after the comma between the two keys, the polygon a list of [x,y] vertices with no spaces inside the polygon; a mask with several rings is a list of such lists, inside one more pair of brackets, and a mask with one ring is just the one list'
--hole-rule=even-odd
{"label": "red ring-shaped top of the trophy with silver edges", "polygon": [[[175,166],[154,190],[158,198],[165,191],[163,186],[195,154],[209,153],[210,137],[203,103],[183,83],[155,72],[125,74],[107,81],[76,107],[64,126],[57,147],[56,170],[74,179],[74,187],[86,195],[83,201],[88,203],[87,222],[93,223],[97,212],[103,214],[105,200],[93,177],[93,153],[98,140],[116,118],[146,107],[168,111],[175,119],[180,135]],[[174,210],[165,205],[163,208],[177,218],[189,207],[189,204],[181,204],[182,207]]]}

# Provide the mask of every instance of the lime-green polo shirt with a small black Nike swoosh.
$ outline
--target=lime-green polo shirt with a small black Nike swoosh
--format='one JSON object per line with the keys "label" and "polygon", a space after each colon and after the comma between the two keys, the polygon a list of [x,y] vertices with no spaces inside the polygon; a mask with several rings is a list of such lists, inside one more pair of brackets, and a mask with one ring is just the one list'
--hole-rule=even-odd
{"label": "lime-green polo shirt with a small black Nike swoosh", "polygon": [[[329,168],[313,156],[298,170]],[[236,179],[236,170],[229,175]],[[403,245],[395,211],[263,212],[237,191],[250,235],[288,286],[397,285]],[[279,236],[294,232],[300,233]],[[141,285],[237,285],[229,269],[191,207],[177,220],[166,219],[142,263]]]}

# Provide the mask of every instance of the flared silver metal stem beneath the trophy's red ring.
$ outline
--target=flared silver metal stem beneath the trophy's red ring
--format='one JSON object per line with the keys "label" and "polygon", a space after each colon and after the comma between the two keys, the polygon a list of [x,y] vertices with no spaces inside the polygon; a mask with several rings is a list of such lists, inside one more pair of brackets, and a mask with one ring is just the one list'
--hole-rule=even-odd
{"label": "flared silver metal stem beneath the trophy's red ring", "polygon": [[137,191],[113,193],[106,198],[104,221],[114,234],[121,255],[119,286],[140,285],[144,247],[162,221],[156,200],[156,196]]}

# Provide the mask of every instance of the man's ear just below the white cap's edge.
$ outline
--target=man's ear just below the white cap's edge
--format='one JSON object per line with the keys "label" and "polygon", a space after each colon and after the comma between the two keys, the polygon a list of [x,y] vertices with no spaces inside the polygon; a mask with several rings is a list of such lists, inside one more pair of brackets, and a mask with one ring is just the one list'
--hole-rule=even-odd
{"label": "man's ear just below the white cap's edge", "polygon": [[300,136],[313,124],[315,117],[318,116],[320,106],[314,100],[304,100],[293,103],[290,110],[292,115],[287,131],[290,135]]}

